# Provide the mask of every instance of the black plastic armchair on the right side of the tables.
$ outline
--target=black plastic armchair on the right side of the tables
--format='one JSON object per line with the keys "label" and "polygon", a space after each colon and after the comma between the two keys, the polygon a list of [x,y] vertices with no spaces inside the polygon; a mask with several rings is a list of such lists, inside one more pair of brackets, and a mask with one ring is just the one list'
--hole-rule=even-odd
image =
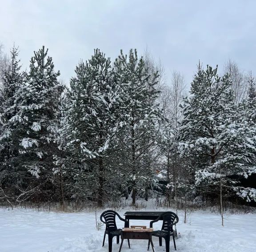
{"label": "black plastic armchair on the right side of the tables", "polygon": [[[162,213],[156,220],[150,221],[150,228],[153,227],[154,222],[157,222],[160,219],[163,220],[162,228],[161,230],[153,231],[152,236],[159,237],[159,246],[162,246],[162,238],[164,238],[166,252],[170,251],[170,236],[172,236],[174,248],[176,250],[175,233],[173,231],[173,226],[179,222],[179,217],[176,215],[176,213],[172,212]],[[149,246],[150,243],[148,242],[148,249]]]}

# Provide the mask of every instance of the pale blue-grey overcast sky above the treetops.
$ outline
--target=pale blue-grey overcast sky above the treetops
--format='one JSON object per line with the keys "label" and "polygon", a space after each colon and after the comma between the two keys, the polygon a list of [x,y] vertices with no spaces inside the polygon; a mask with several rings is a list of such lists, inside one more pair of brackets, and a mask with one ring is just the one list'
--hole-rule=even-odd
{"label": "pale blue-grey overcast sky above the treetops", "polygon": [[112,61],[148,47],[167,77],[181,71],[186,83],[199,59],[256,74],[256,0],[0,0],[0,43],[8,51],[13,42],[24,67],[48,47],[66,83],[97,47]]}

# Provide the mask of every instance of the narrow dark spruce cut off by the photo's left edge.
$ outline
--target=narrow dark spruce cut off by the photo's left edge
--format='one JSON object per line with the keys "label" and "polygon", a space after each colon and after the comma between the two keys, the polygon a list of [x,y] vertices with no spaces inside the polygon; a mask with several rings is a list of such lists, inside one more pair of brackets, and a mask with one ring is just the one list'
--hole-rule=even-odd
{"label": "narrow dark spruce cut off by the photo's left edge", "polygon": [[[14,144],[9,120],[16,114],[16,109],[11,108],[14,106],[15,94],[25,77],[20,71],[20,60],[17,59],[18,47],[13,47],[10,53],[10,62],[2,78],[0,107],[0,185],[5,193],[9,193],[14,188],[20,176],[17,171],[19,148]],[[6,192],[6,188],[9,192]]]}

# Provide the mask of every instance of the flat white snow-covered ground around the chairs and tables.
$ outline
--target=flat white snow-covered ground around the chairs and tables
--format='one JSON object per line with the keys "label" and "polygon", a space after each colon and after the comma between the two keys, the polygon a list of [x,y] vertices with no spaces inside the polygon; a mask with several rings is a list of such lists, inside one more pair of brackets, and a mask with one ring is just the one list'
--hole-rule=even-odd
{"label": "flat white snow-covered ground around the chairs and tables", "polygon": [[[124,212],[119,211],[122,216]],[[150,209],[147,209],[149,211]],[[152,209],[154,210],[154,209]],[[160,211],[161,209],[157,209]],[[156,211],[156,210],[155,210]],[[165,209],[166,211],[166,209]],[[100,213],[99,213],[100,215]],[[227,215],[224,227],[220,216],[207,211],[191,213],[183,223],[182,213],[176,240],[180,252],[252,252],[256,244],[256,214]],[[117,221],[121,228],[123,222]],[[145,224],[149,221],[130,221]],[[160,228],[160,222],[154,227]],[[95,213],[53,213],[24,209],[0,209],[0,252],[108,252],[108,240],[102,247],[104,227],[95,227]],[[131,240],[131,249],[124,241],[122,252],[147,251],[146,240]],[[163,243],[153,237],[156,252],[165,251]],[[113,252],[119,244],[113,241]],[[152,251],[152,250],[151,250]],[[173,243],[170,251],[174,251]]]}

